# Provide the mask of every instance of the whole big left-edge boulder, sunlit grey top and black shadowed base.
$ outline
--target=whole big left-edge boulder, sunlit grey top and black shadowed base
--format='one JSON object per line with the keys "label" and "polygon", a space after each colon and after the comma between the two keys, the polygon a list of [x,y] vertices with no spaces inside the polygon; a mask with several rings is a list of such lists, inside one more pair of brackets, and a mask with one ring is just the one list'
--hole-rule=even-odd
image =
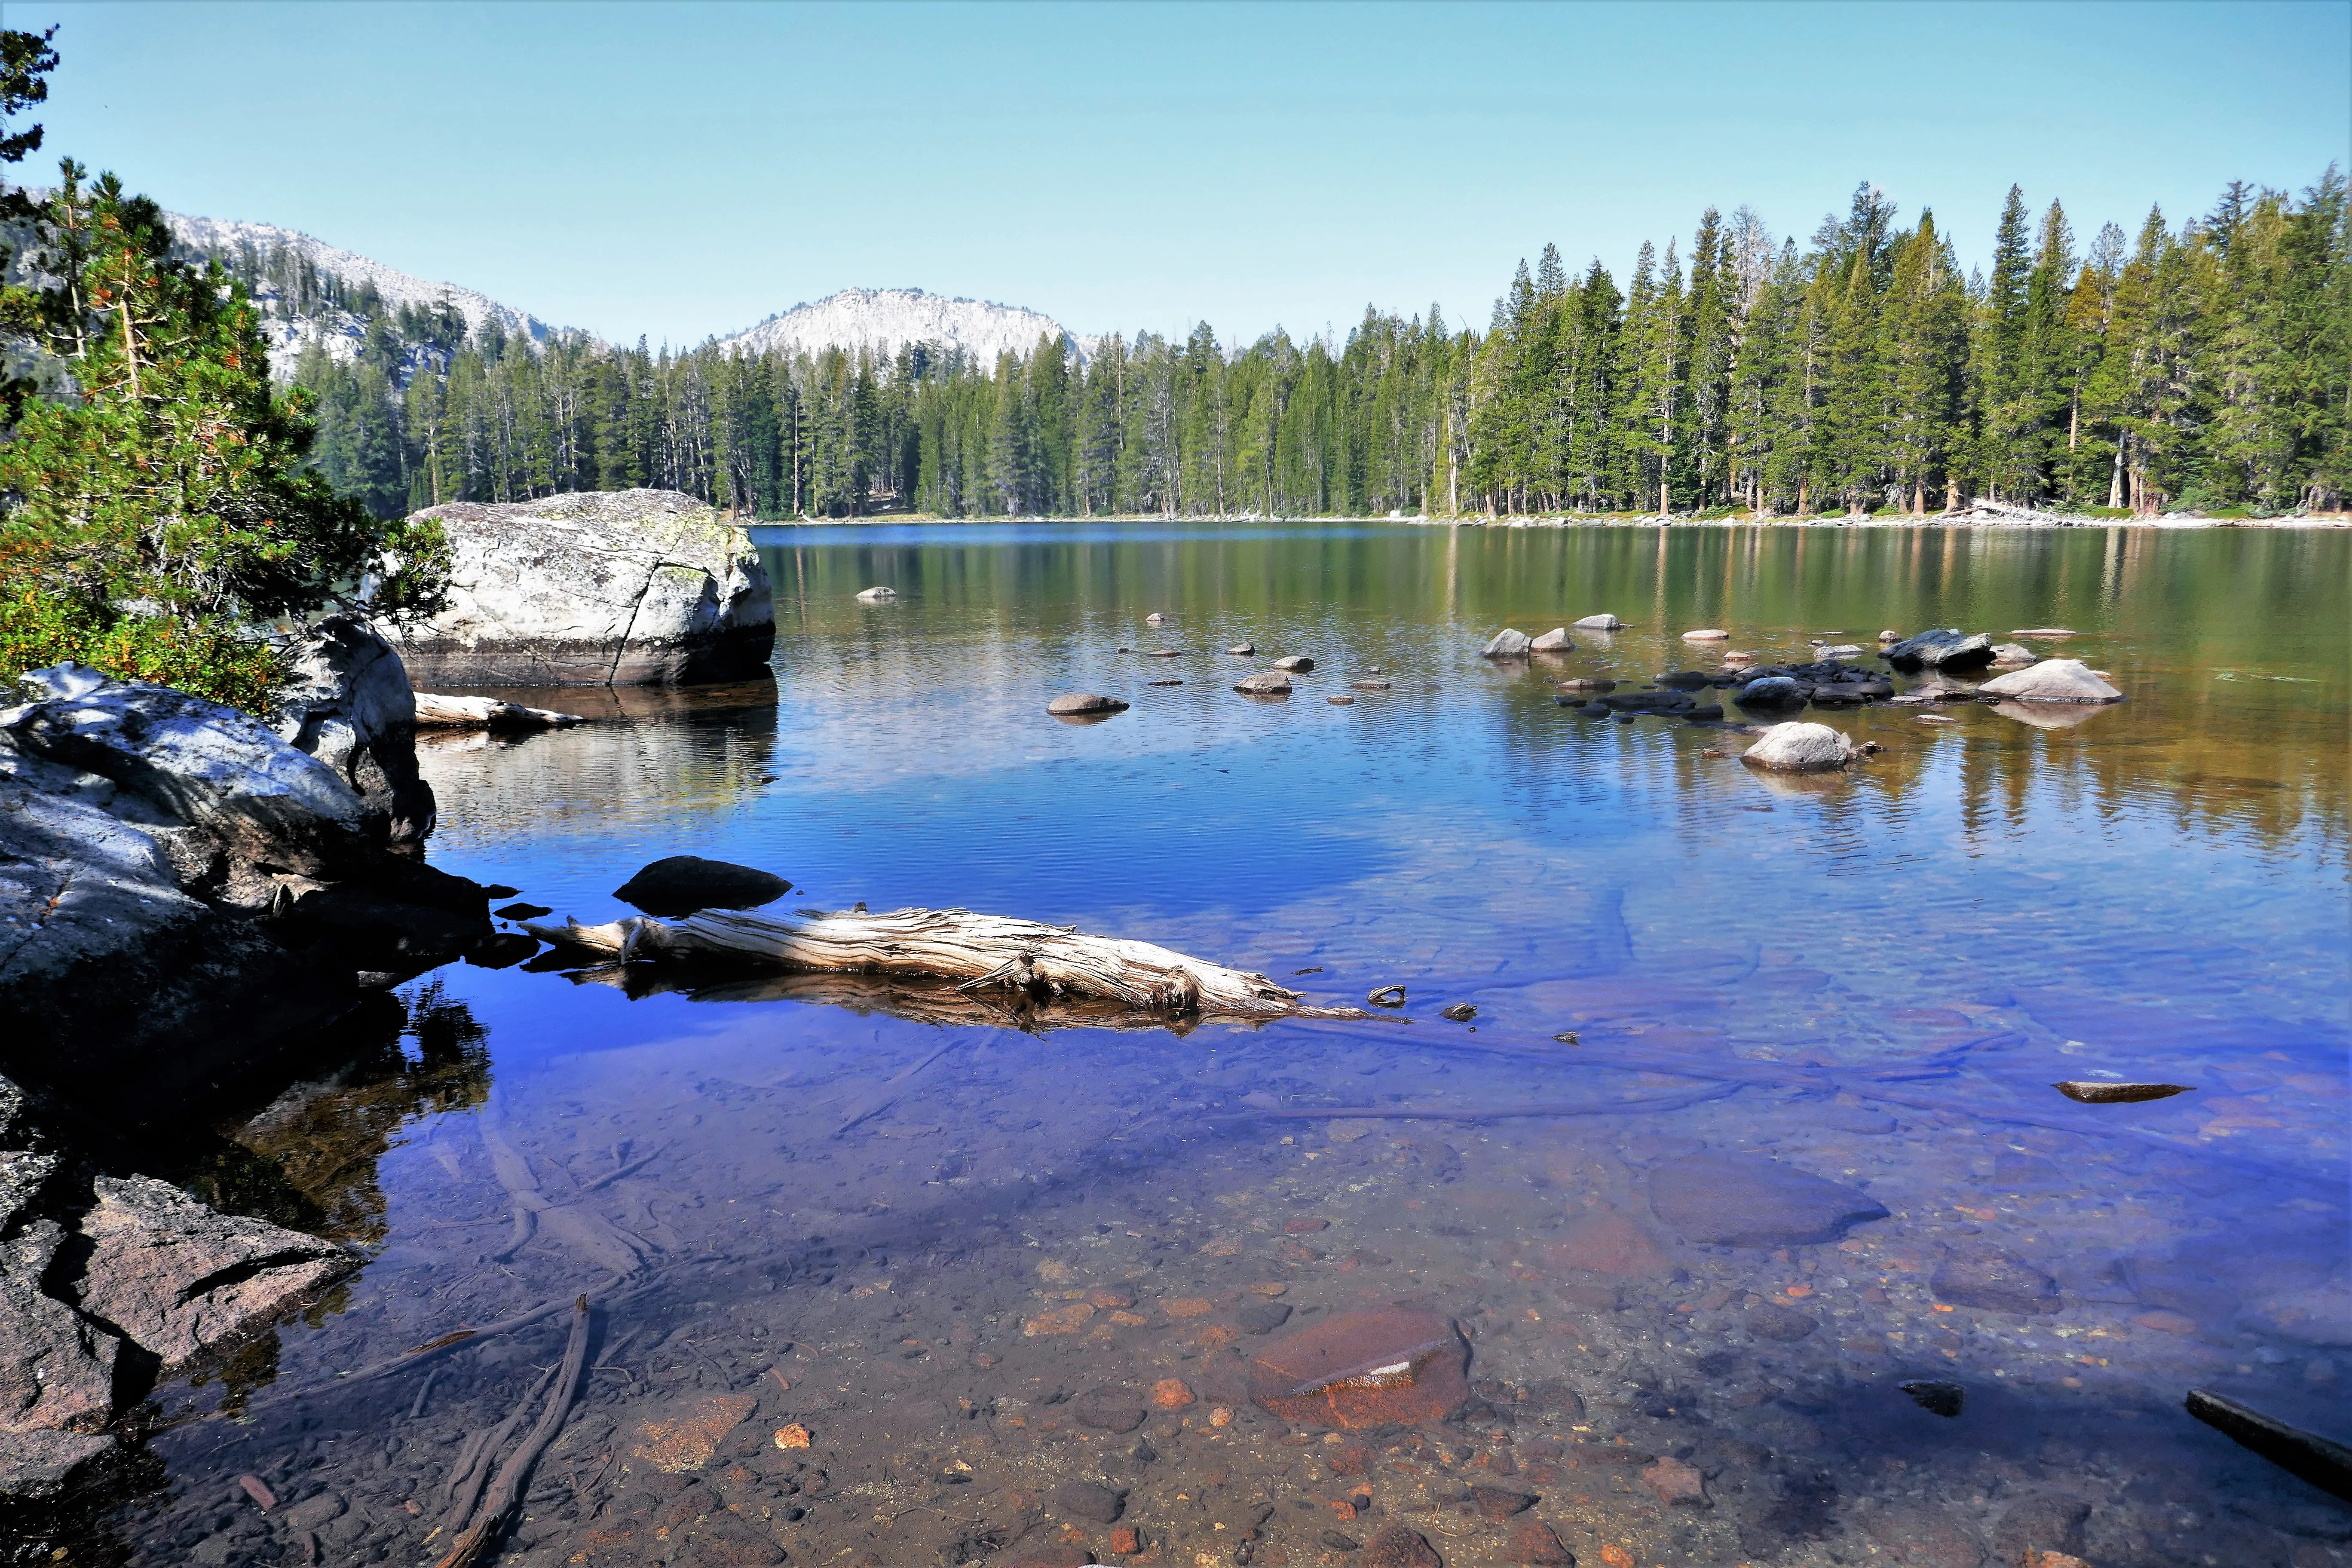
{"label": "whole big left-edge boulder, sunlit grey top and black shadowed base", "polygon": [[[388,849],[388,816],[268,724],[78,665],[21,686],[0,708],[0,1067],[179,1093],[492,936],[477,884]],[[306,729],[348,726],[346,759],[393,733],[343,703]]]}

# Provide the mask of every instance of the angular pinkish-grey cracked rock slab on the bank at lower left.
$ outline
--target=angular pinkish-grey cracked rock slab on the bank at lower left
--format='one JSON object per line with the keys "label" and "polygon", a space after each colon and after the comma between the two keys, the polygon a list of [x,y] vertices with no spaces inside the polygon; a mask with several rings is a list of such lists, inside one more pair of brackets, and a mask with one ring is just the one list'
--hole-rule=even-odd
{"label": "angular pinkish-grey cracked rock slab on the bank at lower left", "polygon": [[205,1208],[151,1175],[92,1182],[82,1312],[153,1352],[162,1373],[261,1328],[360,1265],[350,1251]]}

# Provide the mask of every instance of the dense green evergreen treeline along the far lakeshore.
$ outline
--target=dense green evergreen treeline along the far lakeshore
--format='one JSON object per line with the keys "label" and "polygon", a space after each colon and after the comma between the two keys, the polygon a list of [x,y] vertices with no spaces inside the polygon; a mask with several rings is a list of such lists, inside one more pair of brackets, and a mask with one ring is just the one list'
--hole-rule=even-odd
{"label": "dense green evergreen treeline along the far lakeshore", "polygon": [[[259,282],[275,259],[242,259]],[[2352,205],[2232,183],[2089,249],[2011,188],[1992,268],[1872,186],[1799,249],[1710,209],[1621,289],[1545,247],[1486,331],[1112,336],[976,364],[548,346],[367,310],[306,353],[318,463],[379,515],[654,484],[755,517],[2333,510],[2352,470]]]}

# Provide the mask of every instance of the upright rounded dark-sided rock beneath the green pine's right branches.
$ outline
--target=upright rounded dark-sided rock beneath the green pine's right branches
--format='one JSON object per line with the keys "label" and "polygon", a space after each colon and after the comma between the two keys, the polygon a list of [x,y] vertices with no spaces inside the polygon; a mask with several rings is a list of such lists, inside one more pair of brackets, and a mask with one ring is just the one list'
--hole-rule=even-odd
{"label": "upright rounded dark-sided rock beneath the green pine's right branches", "polygon": [[294,639],[278,736],[343,776],[388,844],[433,832],[433,785],[416,773],[416,698],[400,654],[355,616]]}

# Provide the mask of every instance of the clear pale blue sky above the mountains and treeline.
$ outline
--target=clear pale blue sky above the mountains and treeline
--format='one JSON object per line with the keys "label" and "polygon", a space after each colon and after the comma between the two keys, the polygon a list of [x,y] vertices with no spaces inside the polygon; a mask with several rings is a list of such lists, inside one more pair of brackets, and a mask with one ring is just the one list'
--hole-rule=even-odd
{"label": "clear pale blue sky above the mountains and treeline", "polygon": [[[847,284],[1232,346],[1872,179],[1980,261],[2352,162],[2352,2],[35,5],[49,146],[609,339]],[[19,174],[42,181],[47,169]]]}

